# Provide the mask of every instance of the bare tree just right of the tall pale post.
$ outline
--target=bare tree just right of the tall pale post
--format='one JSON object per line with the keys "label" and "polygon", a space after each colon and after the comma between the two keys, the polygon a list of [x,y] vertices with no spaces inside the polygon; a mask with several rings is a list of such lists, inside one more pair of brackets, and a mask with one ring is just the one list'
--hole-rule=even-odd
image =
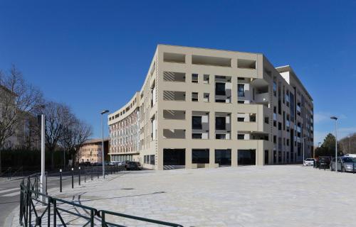
{"label": "bare tree just right of the tall pale post", "polygon": [[73,121],[73,114],[65,104],[48,101],[43,109],[46,117],[45,138],[46,148],[51,153],[51,168],[54,168],[54,150],[62,138],[66,125]]}

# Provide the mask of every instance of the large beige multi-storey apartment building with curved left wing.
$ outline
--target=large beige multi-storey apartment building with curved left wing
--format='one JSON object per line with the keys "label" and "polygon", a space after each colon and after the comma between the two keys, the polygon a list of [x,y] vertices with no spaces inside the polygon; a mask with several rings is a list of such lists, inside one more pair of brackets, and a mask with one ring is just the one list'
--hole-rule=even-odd
{"label": "large beige multi-storey apartment building with curved left wing", "polygon": [[155,170],[300,162],[313,99],[258,53],[158,45],[140,92],[108,116],[111,160]]}

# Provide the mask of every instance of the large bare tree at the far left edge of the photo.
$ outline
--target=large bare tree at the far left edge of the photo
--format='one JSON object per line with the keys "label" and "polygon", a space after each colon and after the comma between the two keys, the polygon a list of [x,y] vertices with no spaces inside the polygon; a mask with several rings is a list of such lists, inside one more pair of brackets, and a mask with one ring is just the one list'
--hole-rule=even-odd
{"label": "large bare tree at the far left edge of the photo", "polygon": [[0,150],[14,138],[24,116],[38,110],[42,103],[42,92],[26,83],[14,65],[9,73],[0,71]]}

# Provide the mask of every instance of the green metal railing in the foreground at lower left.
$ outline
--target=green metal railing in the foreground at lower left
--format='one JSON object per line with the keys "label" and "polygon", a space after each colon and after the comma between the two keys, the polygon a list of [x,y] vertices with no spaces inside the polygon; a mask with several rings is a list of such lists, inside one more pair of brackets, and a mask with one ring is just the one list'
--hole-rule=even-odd
{"label": "green metal railing in the foreground at lower left", "polygon": [[[90,206],[66,201],[48,194],[39,192],[38,174],[31,175],[22,179],[20,184],[20,216],[19,223],[21,226],[70,226],[70,223],[75,220],[75,226],[102,226],[102,227],[117,227],[123,226],[120,223],[107,221],[108,216],[116,216],[127,218],[135,221],[146,223],[156,223],[161,226],[182,226],[177,223],[169,223],[166,221],[158,221],[150,218],[142,218],[139,216],[131,216],[120,214],[112,211],[97,210]],[[73,211],[75,210],[75,211]],[[71,220],[65,220],[68,217],[75,217]],[[33,219],[34,218],[34,219]],[[82,222],[78,223],[78,219]],[[46,223],[44,223],[44,222]],[[96,221],[96,223],[95,223]]]}

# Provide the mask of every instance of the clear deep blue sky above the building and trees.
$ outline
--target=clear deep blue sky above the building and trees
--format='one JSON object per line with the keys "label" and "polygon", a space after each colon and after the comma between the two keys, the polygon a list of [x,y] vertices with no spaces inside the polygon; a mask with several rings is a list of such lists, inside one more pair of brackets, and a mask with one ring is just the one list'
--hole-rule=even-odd
{"label": "clear deep blue sky above the building and trees", "polygon": [[[315,143],[356,132],[356,1],[1,1],[0,69],[91,123],[142,86],[158,43],[262,52],[315,106]],[[107,134],[107,131],[106,131]]]}

